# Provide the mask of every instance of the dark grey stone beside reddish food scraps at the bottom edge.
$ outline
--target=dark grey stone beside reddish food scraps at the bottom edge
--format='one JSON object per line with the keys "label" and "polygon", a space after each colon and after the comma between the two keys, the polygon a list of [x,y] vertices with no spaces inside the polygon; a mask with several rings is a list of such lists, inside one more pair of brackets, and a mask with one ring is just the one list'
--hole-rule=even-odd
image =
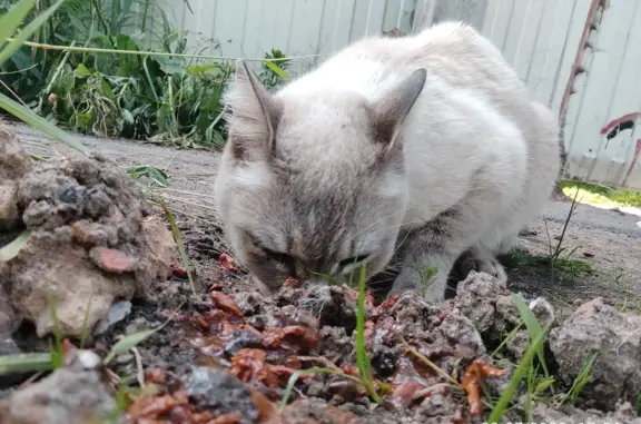
{"label": "dark grey stone beside reddish food scraps at the bottom edge", "polygon": [[241,423],[254,423],[259,415],[249,388],[238,378],[220,369],[191,367],[185,390],[195,405],[215,414],[236,413]]}

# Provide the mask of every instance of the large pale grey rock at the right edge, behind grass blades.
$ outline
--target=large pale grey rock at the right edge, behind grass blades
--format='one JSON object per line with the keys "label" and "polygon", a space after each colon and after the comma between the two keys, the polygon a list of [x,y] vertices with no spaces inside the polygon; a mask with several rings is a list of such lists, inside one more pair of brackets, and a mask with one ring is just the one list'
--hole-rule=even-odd
{"label": "large pale grey rock at the right edge, behind grass blades", "polygon": [[559,373],[572,384],[585,358],[598,352],[581,398],[588,406],[613,410],[618,400],[632,403],[641,393],[641,316],[617,312],[595,298],[551,333],[550,347]]}

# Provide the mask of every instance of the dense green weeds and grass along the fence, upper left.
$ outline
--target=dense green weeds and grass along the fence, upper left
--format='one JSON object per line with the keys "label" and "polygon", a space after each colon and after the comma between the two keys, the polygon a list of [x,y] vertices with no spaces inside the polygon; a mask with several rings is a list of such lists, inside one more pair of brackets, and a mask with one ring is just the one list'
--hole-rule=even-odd
{"label": "dense green weeds and grass along the fence, upper left", "polygon": [[[79,132],[179,147],[224,145],[221,96],[233,60],[200,56],[219,49],[201,36],[190,34],[200,39],[188,48],[189,31],[174,30],[159,1],[142,0],[144,8],[130,0],[59,0],[49,9],[52,1],[14,3],[0,2],[0,13],[17,10],[18,24],[27,26],[6,45],[0,93]],[[2,40],[13,36],[2,32]],[[277,49],[265,55],[260,79],[268,89],[290,79],[284,70],[289,60]]]}

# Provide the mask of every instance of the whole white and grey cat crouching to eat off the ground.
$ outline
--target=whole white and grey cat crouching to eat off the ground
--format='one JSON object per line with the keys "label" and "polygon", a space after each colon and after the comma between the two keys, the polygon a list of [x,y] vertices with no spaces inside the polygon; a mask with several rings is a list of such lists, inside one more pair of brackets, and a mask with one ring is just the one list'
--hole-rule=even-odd
{"label": "whole white and grey cat crouching to eat off the ground", "polygon": [[442,299],[463,252],[505,278],[495,256],[559,174],[554,115],[460,22],[357,41],[275,95],[240,62],[227,99],[216,201],[236,255],[269,289],[361,263],[372,276],[398,247],[392,294]]}

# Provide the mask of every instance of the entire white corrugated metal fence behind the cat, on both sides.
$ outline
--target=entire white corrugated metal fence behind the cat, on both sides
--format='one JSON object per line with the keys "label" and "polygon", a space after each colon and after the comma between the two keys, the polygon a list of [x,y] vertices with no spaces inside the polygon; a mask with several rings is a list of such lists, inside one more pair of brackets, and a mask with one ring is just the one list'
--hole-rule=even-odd
{"label": "entire white corrugated metal fence behind the cat, on both sides", "polygon": [[302,66],[367,34],[424,28],[435,4],[469,2],[536,100],[565,117],[566,177],[641,190],[641,0],[189,0],[193,13],[161,2],[191,47],[219,42],[203,53],[318,55]]}

